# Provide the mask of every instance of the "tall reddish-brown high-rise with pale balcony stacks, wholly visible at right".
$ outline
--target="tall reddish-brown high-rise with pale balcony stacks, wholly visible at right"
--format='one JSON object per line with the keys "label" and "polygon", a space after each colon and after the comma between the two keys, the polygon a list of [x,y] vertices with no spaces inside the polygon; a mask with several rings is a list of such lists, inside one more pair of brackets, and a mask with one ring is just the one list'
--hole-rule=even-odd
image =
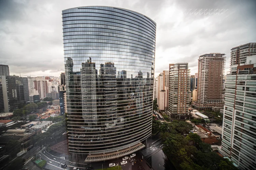
{"label": "tall reddish-brown high-rise with pale balcony stacks, wholly visible at right", "polygon": [[224,105],[225,54],[210,53],[198,58],[197,101],[198,110],[219,111]]}

